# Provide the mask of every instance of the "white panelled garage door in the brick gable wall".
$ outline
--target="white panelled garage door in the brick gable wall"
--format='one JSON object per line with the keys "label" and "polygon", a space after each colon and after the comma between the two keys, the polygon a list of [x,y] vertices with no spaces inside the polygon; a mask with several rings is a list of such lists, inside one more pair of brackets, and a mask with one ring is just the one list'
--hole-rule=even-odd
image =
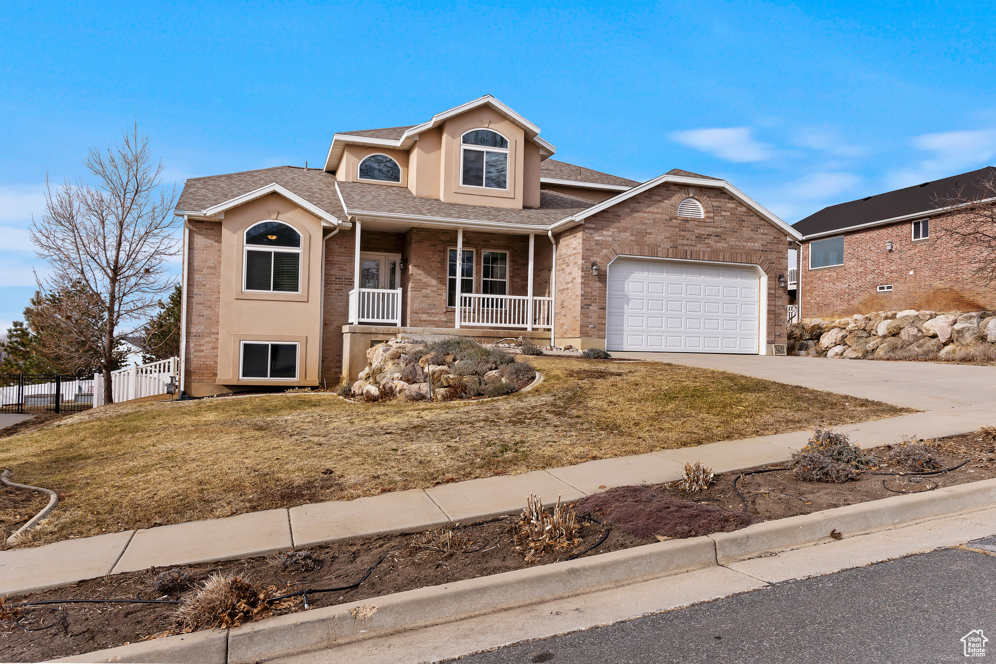
{"label": "white panelled garage door in the brick gable wall", "polygon": [[648,259],[609,266],[610,350],[758,351],[760,278],[752,268]]}

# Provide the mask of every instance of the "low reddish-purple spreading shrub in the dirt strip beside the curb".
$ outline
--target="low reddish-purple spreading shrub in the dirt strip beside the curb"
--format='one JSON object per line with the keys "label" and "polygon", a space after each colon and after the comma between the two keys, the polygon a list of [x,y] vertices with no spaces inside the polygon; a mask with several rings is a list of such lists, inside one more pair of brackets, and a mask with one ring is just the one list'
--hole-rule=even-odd
{"label": "low reddish-purple spreading shrub in the dirt strip beside the curb", "polygon": [[583,498],[577,508],[579,512],[598,514],[637,538],[694,538],[737,531],[755,522],[745,512],[727,512],[678,500],[645,486],[616,487]]}

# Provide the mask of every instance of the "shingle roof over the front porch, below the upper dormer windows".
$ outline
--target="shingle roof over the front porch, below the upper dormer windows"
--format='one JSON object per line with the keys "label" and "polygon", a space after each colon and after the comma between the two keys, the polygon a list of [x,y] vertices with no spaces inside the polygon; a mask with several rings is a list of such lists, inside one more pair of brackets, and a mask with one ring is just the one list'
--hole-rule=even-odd
{"label": "shingle roof over the front porch, below the upper dormer windows", "polygon": [[382,212],[512,224],[549,225],[592,205],[590,200],[548,190],[540,191],[539,208],[522,210],[445,203],[435,198],[416,197],[405,187],[367,182],[340,182],[339,190],[350,214],[360,214],[358,211]]}

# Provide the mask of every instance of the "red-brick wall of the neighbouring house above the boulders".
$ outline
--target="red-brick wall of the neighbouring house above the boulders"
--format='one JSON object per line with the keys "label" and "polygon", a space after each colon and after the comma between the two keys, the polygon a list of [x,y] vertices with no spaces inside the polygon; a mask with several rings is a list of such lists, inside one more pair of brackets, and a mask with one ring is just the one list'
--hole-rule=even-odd
{"label": "red-brick wall of the neighbouring house above the boulders", "polygon": [[[996,290],[971,274],[978,254],[944,237],[942,229],[951,223],[956,219],[931,219],[930,237],[925,240],[912,239],[911,221],[849,233],[840,267],[810,270],[810,244],[804,242],[799,272],[802,316],[838,319],[904,309],[996,309]],[[891,252],[886,242],[892,242]],[[891,293],[878,293],[877,286],[886,284],[892,285]]]}

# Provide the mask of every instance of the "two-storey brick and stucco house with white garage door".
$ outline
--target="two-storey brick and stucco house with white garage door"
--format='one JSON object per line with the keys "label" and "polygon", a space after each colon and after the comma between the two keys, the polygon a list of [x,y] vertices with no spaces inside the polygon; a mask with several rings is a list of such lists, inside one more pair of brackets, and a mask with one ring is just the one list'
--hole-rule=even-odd
{"label": "two-storey brick and stucco house with white garage door", "polygon": [[335,385],[398,333],[760,354],[784,339],[796,231],[721,179],[638,183],[555,151],[485,96],[338,132],[321,168],[187,180],[182,388]]}

